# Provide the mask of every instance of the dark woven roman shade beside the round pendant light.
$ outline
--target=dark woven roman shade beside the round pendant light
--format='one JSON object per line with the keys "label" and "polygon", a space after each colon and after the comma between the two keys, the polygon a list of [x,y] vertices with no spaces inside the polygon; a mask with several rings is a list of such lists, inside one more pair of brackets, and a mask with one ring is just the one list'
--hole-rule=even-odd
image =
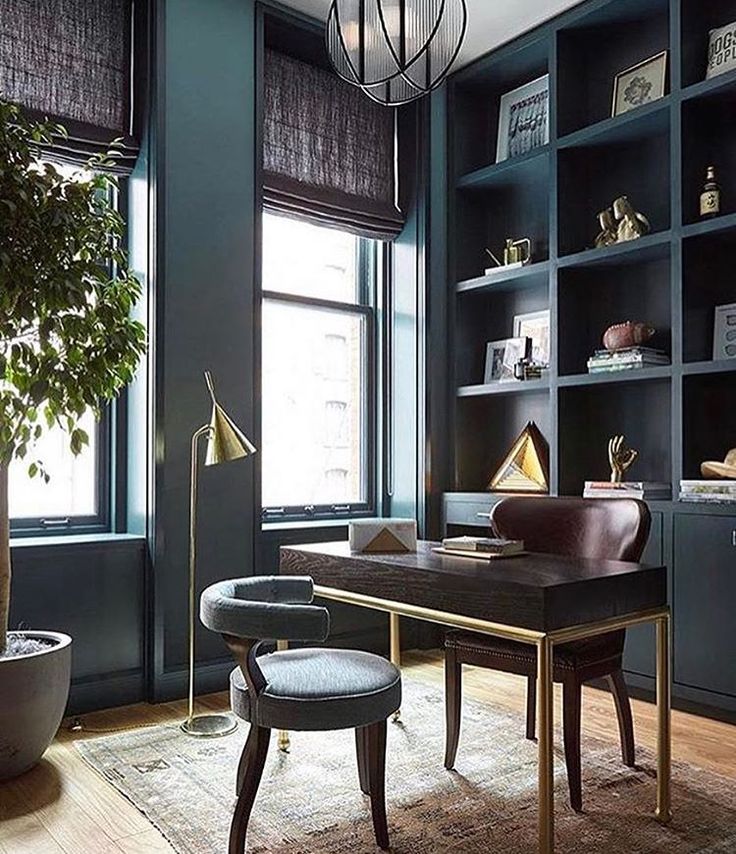
{"label": "dark woven roman shade beside the round pendant light", "polygon": [[391,240],[395,114],[336,75],[277,51],[264,67],[264,203],[279,213]]}

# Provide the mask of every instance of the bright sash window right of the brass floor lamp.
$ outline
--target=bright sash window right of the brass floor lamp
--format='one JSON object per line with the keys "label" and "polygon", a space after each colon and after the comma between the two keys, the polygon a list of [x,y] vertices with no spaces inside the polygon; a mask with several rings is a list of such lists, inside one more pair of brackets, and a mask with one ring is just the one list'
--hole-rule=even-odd
{"label": "bright sash window right of the brass floor lamp", "polygon": [[265,517],[368,510],[379,244],[263,217]]}

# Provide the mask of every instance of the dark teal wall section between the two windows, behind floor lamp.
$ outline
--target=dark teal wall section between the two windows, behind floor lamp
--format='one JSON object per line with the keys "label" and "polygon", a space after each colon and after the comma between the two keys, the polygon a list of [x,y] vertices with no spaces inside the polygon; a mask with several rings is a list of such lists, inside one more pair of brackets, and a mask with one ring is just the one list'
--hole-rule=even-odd
{"label": "dark teal wall section between the two windows, behind floor lamp", "polygon": [[[166,0],[155,128],[157,257],[154,696],[180,694],[187,655],[189,443],[202,379],[254,433],[255,33],[251,0]],[[252,461],[202,472],[198,586],[254,565]],[[200,630],[198,659],[226,658]]]}

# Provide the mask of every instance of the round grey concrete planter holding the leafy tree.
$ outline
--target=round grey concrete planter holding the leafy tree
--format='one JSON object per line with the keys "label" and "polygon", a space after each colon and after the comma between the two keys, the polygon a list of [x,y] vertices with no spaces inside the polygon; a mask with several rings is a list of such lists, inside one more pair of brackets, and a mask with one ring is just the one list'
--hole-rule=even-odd
{"label": "round grey concrete planter holding the leafy tree", "polygon": [[69,697],[72,639],[58,632],[22,634],[53,646],[0,659],[0,780],[17,777],[43,756]]}

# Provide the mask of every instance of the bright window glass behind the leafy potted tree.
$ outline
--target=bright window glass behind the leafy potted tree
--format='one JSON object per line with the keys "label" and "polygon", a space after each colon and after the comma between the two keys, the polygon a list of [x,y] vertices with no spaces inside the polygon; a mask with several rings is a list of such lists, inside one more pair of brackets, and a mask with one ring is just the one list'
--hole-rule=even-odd
{"label": "bright window glass behind the leafy potted tree", "polygon": [[[54,162],[67,177],[80,172],[76,166]],[[61,427],[44,433],[28,451],[25,460],[15,460],[8,472],[8,499],[11,528],[15,533],[100,528],[107,524],[108,441],[105,415],[101,423],[91,412],[80,427],[89,436],[89,445],[79,456],[69,447]],[[39,460],[50,479],[44,482],[28,475],[30,463]]]}

